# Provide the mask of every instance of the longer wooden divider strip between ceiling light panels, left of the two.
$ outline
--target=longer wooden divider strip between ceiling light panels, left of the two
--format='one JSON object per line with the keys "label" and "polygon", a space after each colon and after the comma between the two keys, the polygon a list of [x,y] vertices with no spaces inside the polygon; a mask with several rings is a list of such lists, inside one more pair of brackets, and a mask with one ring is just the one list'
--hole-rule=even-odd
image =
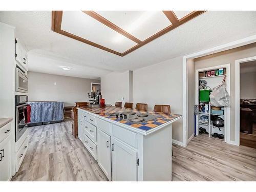
{"label": "longer wooden divider strip between ceiling light panels, left of the two", "polygon": [[94,19],[98,20],[98,22],[104,24],[105,26],[108,26],[109,28],[113,29],[114,31],[120,33],[121,35],[131,39],[132,41],[136,42],[137,44],[141,44],[142,41],[137,39],[135,36],[131,35],[130,33],[124,31],[120,27],[116,26],[112,22],[110,22],[108,19],[102,17],[95,11],[82,11],[83,13],[86,13],[87,15],[93,17]]}

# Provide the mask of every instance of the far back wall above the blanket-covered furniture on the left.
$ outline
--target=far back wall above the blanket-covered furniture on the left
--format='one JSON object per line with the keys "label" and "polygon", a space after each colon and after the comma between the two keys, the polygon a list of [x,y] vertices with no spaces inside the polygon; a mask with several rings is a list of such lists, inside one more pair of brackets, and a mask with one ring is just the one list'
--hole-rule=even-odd
{"label": "far back wall above the blanket-covered furniture on the left", "polygon": [[28,76],[29,101],[57,100],[64,102],[65,106],[73,106],[75,102],[88,101],[87,93],[91,92],[91,82],[100,82],[96,79],[37,72],[29,72]]}

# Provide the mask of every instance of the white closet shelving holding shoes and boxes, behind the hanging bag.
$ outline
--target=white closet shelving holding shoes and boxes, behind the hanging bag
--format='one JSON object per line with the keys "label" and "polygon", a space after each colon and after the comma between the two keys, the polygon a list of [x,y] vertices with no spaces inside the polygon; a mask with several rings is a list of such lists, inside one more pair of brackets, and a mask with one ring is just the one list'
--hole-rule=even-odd
{"label": "white closet shelving holding shoes and boxes, behind the hanging bag", "polygon": [[[207,71],[214,71],[214,70],[218,70],[218,69],[211,69],[211,70],[207,70]],[[206,72],[207,71],[200,71],[199,73],[202,73],[202,72]],[[216,75],[216,76],[206,76],[206,77],[199,77],[198,75],[198,82],[199,80],[206,80],[207,81],[207,86],[209,86],[211,89],[215,88],[216,86],[218,86],[219,84],[221,84],[223,78],[226,76],[226,68],[224,68],[224,74],[223,75]],[[200,90],[198,89],[198,92]],[[198,96],[199,96],[199,93],[198,93]],[[212,114],[211,113],[211,104],[210,102],[207,102],[207,101],[200,101],[199,97],[198,97],[198,104],[199,104],[199,114],[198,114],[198,123],[197,123],[197,135],[199,133],[199,128],[202,127],[204,129],[206,129],[206,131],[208,132],[208,136],[210,138],[213,138],[211,136],[211,134],[213,133],[218,133],[218,134],[223,134],[224,135],[224,139],[222,139],[224,142],[226,142],[226,109],[224,106],[221,107],[221,110],[223,110],[223,115],[220,115],[220,114]],[[208,105],[208,108],[207,108],[207,105]],[[202,107],[201,107],[202,106]],[[205,106],[203,108],[203,106]],[[208,110],[207,110],[208,109]],[[201,116],[207,116],[208,117],[208,120],[200,120],[200,117]],[[216,127],[212,124],[212,120],[210,118],[211,115],[217,115],[218,117],[221,117],[223,120],[224,120],[224,126],[223,127],[220,127],[220,130],[219,130],[219,127]],[[217,139],[219,139],[217,137]],[[220,139],[221,140],[221,139]]]}

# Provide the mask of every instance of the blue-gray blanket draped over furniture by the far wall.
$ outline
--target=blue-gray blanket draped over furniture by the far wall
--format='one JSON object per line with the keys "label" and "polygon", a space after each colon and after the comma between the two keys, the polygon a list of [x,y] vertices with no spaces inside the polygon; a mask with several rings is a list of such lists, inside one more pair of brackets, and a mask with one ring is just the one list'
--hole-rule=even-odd
{"label": "blue-gray blanket draped over furniture by the far wall", "polygon": [[31,106],[30,123],[64,119],[63,102],[28,102]]}

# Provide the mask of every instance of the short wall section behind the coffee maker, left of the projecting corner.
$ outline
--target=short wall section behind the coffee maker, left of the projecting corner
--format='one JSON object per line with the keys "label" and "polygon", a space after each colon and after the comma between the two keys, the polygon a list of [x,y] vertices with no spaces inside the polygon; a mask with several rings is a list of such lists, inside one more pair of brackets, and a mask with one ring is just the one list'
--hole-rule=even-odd
{"label": "short wall section behind the coffee maker, left of the projecting corner", "polygon": [[[125,71],[123,73],[112,72],[100,78],[101,94],[105,99],[105,104],[115,105],[116,101],[121,101],[124,105],[124,102],[130,102],[131,76],[130,71]],[[123,97],[124,100],[122,100]]]}

